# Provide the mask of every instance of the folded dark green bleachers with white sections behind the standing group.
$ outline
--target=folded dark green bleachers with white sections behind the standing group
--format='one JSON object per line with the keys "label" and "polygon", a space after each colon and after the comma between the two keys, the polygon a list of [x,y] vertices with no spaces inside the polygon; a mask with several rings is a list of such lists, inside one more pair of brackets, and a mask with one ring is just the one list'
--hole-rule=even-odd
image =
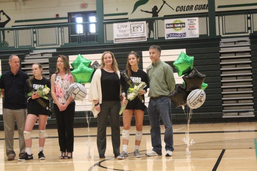
{"label": "folded dark green bleachers with white sections behind the standing group", "polygon": [[[176,84],[182,84],[182,77],[178,77],[177,71],[173,66],[173,62],[179,56],[181,51],[184,51],[188,56],[194,56],[194,67],[202,74],[206,75],[204,82],[208,84],[208,87],[204,90],[206,93],[206,100],[204,104],[193,110],[191,123],[208,123],[208,122],[227,122],[227,121],[250,121],[253,118],[223,118],[223,106],[222,106],[222,88],[221,88],[221,70],[220,70],[220,39],[219,38],[199,38],[196,40],[174,40],[174,41],[159,41],[159,42],[140,42],[140,43],[128,43],[128,44],[106,44],[106,45],[91,45],[91,46],[77,46],[77,47],[61,47],[57,48],[56,52],[52,52],[52,56],[48,58],[49,63],[45,63],[46,68],[49,66],[49,78],[56,71],[56,61],[58,55],[65,55],[68,57],[69,62],[73,62],[78,54],[81,54],[92,63],[97,61],[101,63],[101,55],[104,51],[111,51],[114,53],[119,70],[125,70],[127,64],[127,55],[131,51],[136,51],[141,56],[139,62],[139,68],[146,71],[146,67],[151,64],[149,58],[149,47],[152,45],[158,45],[162,48],[161,60],[172,66]],[[256,50],[254,51],[256,53]],[[21,53],[22,54],[22,53]],[[257,55],[256,55],[257,56]],[[40,58],[38,62],[44,62]],[[252,60],[254,62],[254,60]],[[5,60],[1,60],[2,67],[9,67]],[[21,66],[25,66],[26,60],[21,62]],[[48,66],[47,66],[48,65]],[[8,68],[9,69],[9,68]],[[48,74],[47,73],[47,74]],[[253,68],[253,80],[256,76],[256,69]],[[86,84],[87,93],[89,92],[90,84]],[[253,81],[254,89],[256,81]],[[148,93],[147,93],[148,94]],[[145,104],[148,105],[149,97],[147,97]],[[254,101],[256,101],[256,94],[254,93]],[[51,102],[51,106],[52,102]],[[255,105],[256,107],[256,105]],[[86,127],[87,121],[85,115],[91,116],[91,126],[97,126],[97,119],[93,118],[91,113],[91,103],[88,101],[88,96],[82,101],[76,101],[75,107],[75,120],[74,127]],[[53,112],[53,109],[51,108]],[[185,108],[185,113],[189,112],[189,108]],[[174,124],[180,124],[186,122],[185,113],[181,107],[175,108],[172,102],[172,121]],[[132,118],[132,125],[135,120]],[[144,125],[149,124],[149,118],[147,110],[144,112]],[[3,125],[0,118],[0,129]],[[122,116],[121,116],[122,125]],[[56,121],[55,115],[51,115],[51,118],[47,121],[47,128],[55,128]]]}

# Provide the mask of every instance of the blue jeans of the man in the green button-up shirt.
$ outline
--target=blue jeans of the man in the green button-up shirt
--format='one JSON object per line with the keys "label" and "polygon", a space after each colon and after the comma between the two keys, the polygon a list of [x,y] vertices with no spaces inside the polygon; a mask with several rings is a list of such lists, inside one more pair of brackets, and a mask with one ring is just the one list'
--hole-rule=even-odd
{"label": "blue jeans of the man in the green button-up shirt", "polygon": [[153,151],[162,152],[162,141],[160,132],[160,115],[165,127],[164,142],[165,150],[173,151],[173,129],[171,119],[171,105],[168,96],[160,97],[158,99],[150,99],[148,104],[148,115],[150,120],[150,133],[152,140]]}

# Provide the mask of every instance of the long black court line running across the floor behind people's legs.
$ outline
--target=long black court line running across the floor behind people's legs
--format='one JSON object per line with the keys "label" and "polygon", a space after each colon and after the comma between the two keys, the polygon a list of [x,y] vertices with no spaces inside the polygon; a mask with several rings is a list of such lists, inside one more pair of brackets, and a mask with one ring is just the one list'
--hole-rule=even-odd
{"label": "long black court line running across the floor behind people's legs", "polygon": [[[190,134],[210,134],[210,133],[246,133],[246,132],[257,132],[257,130],[245,130],[245,131],[205,131],[205,132],[189,132]],[[173,134],[184,134],[185,132],[179,132],[179,133],[173,133]],[[136,134],[129,134],[129,135],[136,135]],[[151,135],[150,133],[143,133],[143,135]],[[161,135],[164,135],[164,133],[161,133]],[[121,134],[122,136],[122,134]],[[77,135],[74,136],[74,138],[83,138],[88,137],[88,135]],[[90,137],[97,137],[97,135],[90,135]],[[111,137],[111,135],[106,135],[106,137]],[[45,138],[58,138],[57,137],[45,137]],[[15,140],[18,140],[19,138],[14,138]],[[32,139],[39,139],[39,137],[32,137]],[[0,140],[5,140],[4,138],[1,138]]]}

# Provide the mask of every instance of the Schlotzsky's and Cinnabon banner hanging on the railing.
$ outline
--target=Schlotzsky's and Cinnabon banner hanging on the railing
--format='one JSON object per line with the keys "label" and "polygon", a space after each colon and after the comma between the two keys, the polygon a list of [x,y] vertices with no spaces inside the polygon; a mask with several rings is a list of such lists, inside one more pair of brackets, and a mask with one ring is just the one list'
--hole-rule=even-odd
{"label": "Schlotzsky's and Cinnabon banner hanging on the railing", "polygon": [[168,19],[165,23],[165,39],[199,37],[198,17]]}

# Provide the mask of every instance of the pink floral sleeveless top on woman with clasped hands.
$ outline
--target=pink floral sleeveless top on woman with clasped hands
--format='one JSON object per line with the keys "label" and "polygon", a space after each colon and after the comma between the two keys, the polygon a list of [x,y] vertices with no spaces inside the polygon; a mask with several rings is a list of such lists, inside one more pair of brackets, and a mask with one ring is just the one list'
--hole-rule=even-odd
{"label": "pink floral sleeveless top on woman with clasped hands", "polygon": [[[68,88],[71,85],[71,73],[68,72],[64,75],[63,80],[61,79],[60,73],[55,74],[55,94],[60,103],[64,104],[68,97]],[[55,101],[54,101],[55,103]]]}

